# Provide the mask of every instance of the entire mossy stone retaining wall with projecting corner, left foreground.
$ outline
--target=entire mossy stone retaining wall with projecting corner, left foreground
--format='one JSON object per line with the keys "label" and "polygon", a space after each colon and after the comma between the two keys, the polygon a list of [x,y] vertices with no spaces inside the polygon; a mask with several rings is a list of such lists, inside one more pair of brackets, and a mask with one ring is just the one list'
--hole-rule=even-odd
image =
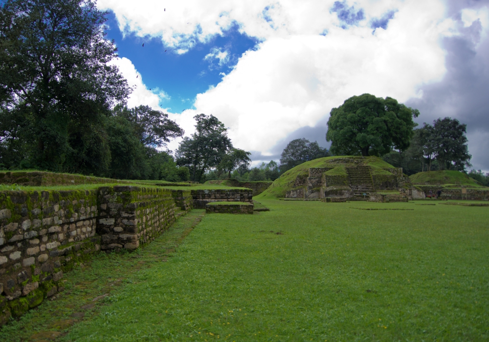
{"label": "entire mossy stone retaining wall with projecting corner, left foreground", "polygon": [[62,291],[94,253],[150,242],[192,205],[189,190],[133,186],[0,192],[0,325]]}

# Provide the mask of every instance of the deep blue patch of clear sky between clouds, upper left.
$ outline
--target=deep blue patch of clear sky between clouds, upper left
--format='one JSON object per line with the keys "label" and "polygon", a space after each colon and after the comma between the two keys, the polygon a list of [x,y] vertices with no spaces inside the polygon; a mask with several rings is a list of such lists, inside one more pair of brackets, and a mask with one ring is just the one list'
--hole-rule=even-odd
{"label": "deep blue patch of clear sky between clouds, upper left", "polygon": [[[178,54],[158,37],[139,37],[133,32],[123,35],[113,12],[107,18],[107,38],[115,40],[119,56],[133,62],[148,88],[169,95],[169,99],[161,99],[160,106],[174,113],[195,109],[196,95],[220,83],[222,73],[229,73],[244,51],[255,48],[258,43],[256,38],[241,34],[238,26],[233,25],[222,36],[198,42],[188,52]],[[228,52],[229,61],[220,65],[216,58],[204,60],[216,47]]]}

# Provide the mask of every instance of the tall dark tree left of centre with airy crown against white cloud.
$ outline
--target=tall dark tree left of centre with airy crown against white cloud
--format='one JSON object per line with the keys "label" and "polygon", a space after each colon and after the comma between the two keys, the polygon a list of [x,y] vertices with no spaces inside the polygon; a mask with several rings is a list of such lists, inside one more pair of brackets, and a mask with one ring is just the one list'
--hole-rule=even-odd
{"label": "tall dark tree left of centre with airy crown against white cloud", "polygon": [[227,128],[215,116],[199,114],[194,119],[196,131],[183,138],[176,155],[177,164],[188,167],[192,181],[200,182],[204,172],[217,167],[233,146]]}

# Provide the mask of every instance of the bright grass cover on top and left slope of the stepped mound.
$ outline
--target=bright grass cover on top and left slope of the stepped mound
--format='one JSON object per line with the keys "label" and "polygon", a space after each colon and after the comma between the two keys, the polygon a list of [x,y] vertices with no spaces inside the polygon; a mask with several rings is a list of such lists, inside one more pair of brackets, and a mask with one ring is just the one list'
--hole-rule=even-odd
{"label": "bright grass cover on top and left slope of the stepped mound", "polygon": [[299,174],[307,174],[309,168],[326,168],[333,167],[327,173],[331,175],[346,174],[346,167],[354,166],[343,162],[343,158],[362,159],[364,165],[372,167],[374,174],[389,173],[383,170],[383,168],[394,168],[389,163],[384,162],[379,157],[358,157],[358,156],[334,156],[325,157],[311,160],[309,162],[302,163],[289,171],[284,172],[279,178],[277,178],[266,191],[262,192],[258,197],[260,198],[282,198],[285,194],[292,189],[295,179]]}

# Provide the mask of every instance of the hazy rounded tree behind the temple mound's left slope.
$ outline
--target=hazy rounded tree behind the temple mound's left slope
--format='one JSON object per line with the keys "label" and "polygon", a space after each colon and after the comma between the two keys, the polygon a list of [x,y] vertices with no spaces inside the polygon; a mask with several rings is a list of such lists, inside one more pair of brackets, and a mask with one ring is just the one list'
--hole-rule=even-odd
{"label": "hazy rounded tree behind the temple mound's left slope", "polygon": [[311,143],[306,138],[294,139],[287,144],[280,155],[280,170],[289,170],[309,160],[330,155],[329,151],[321,148],[317,141]]}

